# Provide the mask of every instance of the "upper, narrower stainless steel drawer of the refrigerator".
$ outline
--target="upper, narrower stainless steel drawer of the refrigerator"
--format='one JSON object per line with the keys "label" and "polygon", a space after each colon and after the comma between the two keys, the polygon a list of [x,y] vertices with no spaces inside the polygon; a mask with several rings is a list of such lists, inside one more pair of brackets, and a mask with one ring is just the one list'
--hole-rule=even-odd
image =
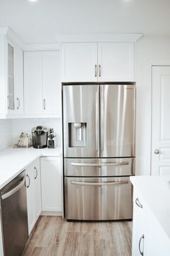
{"label": "upper, narrower stainless steel drawer of the refrigerator", "polygon": [[135,170],[135,158],[65,158],[65,176],[129,176]]}

